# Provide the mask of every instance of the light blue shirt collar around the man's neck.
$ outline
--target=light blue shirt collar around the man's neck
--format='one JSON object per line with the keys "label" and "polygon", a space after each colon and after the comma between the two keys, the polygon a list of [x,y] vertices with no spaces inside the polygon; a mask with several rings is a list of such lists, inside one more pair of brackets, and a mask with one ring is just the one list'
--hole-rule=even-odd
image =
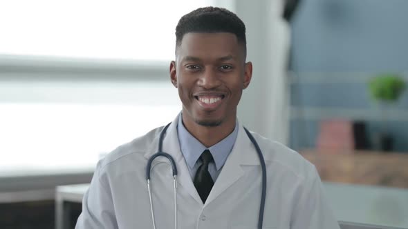
{"label": "light blue shirt collar around the man's neck", "polygon": [[225,161],[230,155],[232,147],[234,146],[235,140],[238,135],[238,121],[235,124],[234,131],[214,146],[206,148],[200,141],[198,141],[192,134],[188,132],[183,124],[182,115],[178,115],[178,141],[180,143],[181,153],[183,154],[187,166],[193,168],[196,164],[196,161],[201,156],[201,153],[208,149],[211,152],[212,157],[214,158],[215,166],[217,170],[220,170]]}

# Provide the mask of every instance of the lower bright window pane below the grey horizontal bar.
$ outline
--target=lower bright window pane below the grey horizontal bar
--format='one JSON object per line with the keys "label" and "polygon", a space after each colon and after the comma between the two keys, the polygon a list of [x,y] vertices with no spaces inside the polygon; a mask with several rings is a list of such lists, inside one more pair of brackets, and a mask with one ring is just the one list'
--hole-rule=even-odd
{"label": "lower bright window pane below the grey horizontal bar", "polygon": [[180,110],[169,82],[3,82],[0,91],[25,94],[0,103],[1,170],[90,168]]}

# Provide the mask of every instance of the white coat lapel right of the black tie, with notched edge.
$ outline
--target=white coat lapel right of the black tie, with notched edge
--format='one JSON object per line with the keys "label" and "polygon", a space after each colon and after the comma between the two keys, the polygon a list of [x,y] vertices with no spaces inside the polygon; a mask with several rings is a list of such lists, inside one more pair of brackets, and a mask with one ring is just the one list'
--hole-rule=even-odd
{"label": "white coat lapel right of the black tie, with notched edge", "polygon": [[252,146],[252,142],[246,135],[242,125],[239,125],[237,140],[235,141],[234,148],[230,152],[227,161],[221,170],[219,177],[216,179],[214,186],[205,201],[205,206],[211,203],[216,197],[219,197],[221,193],[227,190],[233,183],[238,181],[243,175],[244,170],[241,165],[259,165],[257,159],[256,150]]}

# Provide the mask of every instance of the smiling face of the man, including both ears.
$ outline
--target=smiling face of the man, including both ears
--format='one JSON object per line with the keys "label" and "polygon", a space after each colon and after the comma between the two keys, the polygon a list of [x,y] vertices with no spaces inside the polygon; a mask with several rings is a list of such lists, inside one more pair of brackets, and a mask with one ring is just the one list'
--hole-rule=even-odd
{"label": "smiling face of the man, including both ears", "polygon": [[185,124],[235,126],[252,63],[245,63],[243,46],[232,33],[187,33],[176,48],[170,77],[183,103]]}

